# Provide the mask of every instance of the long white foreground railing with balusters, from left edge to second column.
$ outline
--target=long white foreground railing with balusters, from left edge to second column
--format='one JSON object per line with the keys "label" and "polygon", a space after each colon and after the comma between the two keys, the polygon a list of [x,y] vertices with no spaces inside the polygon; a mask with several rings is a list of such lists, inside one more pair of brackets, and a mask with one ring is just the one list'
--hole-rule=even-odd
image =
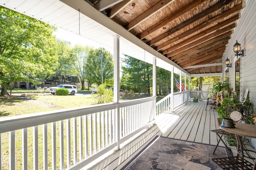
{"label": "long white foreground railing with balusters, from left edge to second column", "polygon": [[150,97],[1,118],[0,170],[82,168],[152,125],[155,107]]}

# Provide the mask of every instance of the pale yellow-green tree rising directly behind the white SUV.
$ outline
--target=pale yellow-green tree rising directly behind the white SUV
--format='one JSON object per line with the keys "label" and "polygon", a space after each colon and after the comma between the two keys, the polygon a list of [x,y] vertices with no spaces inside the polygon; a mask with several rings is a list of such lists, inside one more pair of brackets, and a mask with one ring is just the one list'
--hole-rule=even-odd
{"label": "pale yellow-green tree rising directly behind the white SUV", "polygon": [[58,81],[63,82],[66,84],[66,81],[72,74],[74,70],[74,62],[75,59],[71,55],[71,46],[70,42],[62,41],[58,39],[58,49],[57,49],[57,57],[58,57],[58,64],[55,71],[55,76],[58,78]]}

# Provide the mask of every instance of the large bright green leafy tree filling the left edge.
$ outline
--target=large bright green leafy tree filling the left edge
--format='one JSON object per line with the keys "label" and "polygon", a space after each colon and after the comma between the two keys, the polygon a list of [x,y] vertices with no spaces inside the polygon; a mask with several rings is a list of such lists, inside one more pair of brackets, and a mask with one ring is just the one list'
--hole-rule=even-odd
{"label": "large bright green leafy tree filling the left edge", "polygon": [[55,27],[0,6],[1,96],[10,82],[30,81],[53,73],[56,66]]}

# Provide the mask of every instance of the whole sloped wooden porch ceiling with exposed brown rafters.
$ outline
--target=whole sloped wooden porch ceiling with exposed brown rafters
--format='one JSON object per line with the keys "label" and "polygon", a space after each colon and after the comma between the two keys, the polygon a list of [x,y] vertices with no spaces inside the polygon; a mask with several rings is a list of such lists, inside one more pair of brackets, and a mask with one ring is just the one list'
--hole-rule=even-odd
{"label": "whole sloped wooden porch ceiling with exposed brown rafters", "polygon": [[244,0],[85,0],[190,74],[222,72]]}

